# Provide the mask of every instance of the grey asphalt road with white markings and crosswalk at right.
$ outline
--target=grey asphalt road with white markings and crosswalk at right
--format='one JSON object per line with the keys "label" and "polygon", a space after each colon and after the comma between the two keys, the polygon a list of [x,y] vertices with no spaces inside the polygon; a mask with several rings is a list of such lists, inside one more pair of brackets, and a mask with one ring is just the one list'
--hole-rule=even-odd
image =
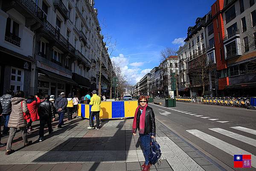
{"label": "grey asphalt road with white markings and crosswalk at right", "polygon": [[[176,102],[150,103],[156,118],[227,170],[256,171],[256,110]],[[233,168],[234,154],[252,154],[252,168]]]}

